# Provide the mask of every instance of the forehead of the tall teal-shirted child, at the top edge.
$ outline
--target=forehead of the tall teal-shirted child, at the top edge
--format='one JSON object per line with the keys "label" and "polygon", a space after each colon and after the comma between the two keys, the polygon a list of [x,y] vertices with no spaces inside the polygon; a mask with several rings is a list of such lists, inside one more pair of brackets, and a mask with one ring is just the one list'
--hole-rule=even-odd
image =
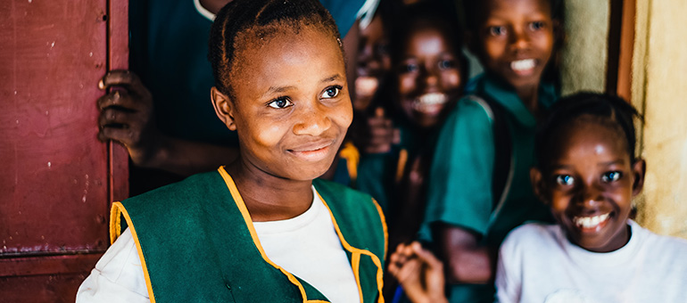
{"label": "forehead of the tall teal-shirted child, at the top edge", "polygon": [[482,20],[513,18],[534,14],[551,17],[551,0],[485,0],[481,4]]}

